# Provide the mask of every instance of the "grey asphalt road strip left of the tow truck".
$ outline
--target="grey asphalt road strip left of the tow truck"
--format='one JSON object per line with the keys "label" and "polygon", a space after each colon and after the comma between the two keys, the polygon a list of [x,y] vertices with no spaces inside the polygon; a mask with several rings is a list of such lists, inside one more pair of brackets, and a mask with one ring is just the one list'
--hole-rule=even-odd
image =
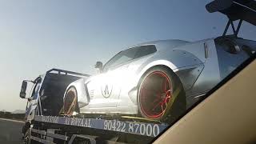
{"label": "grey asphalt road strip left of the tow truck", "polygon": [[21,144],[23,122],[0,118],[0,143]]}

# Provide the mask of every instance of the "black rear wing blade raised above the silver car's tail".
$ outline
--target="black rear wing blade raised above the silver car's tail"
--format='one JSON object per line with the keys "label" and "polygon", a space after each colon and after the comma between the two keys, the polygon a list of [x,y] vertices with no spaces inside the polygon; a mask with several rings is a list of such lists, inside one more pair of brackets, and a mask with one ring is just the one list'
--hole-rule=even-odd
{"label": "black rear wing blade raised above the silver car's tail", "polygon": [[214,0],[206,5],[206,10],[226,14],[230,21],[240,19],[256,26],[255,0]]}

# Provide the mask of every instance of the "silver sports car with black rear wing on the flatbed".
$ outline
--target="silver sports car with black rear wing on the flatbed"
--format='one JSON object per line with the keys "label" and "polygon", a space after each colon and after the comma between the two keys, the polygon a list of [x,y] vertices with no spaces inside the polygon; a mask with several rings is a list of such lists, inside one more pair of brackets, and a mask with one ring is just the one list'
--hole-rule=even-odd
{"label": "silver sports car with black rear wing on the flatbed", "polygon": [[[249,1],[241,2],[230,0],[223,5],[218,0],[206,6],[209,12],[220,11],[229,18],[221,37],[146,42],[122,50],[104,66],[97,62],[99,74],[66,88],[64,114],[137,114],[153,120],[177,117],[255,55],[256,42],[238,38],[242,20],[256,25],[255,17],[237,14],[250,6]],[[238,19],[235,30],[233,22]],[[230,25],[234,34],[226,35]]]}

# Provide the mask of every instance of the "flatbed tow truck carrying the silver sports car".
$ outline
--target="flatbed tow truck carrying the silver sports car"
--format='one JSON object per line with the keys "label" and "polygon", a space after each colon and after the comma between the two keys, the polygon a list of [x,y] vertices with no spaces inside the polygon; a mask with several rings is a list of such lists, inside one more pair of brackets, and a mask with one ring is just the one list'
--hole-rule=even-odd
{"label": "flatbed tow truck carrying the silver sports car", "polygon": [[[21,98],[26,98],[27,82],[34,85],[27,98],[25,126],[22,130],[25,143],[145,143],[168,126],[166,123],[117,114],[66,116],[57,113],[56,110],[62,109],[66,86],[78,78],[88,76],[52,69],[34,81],[22,82]],[[46,93],[47,89],[51,93]],[[48,100],[45,95],[48,95]]]}

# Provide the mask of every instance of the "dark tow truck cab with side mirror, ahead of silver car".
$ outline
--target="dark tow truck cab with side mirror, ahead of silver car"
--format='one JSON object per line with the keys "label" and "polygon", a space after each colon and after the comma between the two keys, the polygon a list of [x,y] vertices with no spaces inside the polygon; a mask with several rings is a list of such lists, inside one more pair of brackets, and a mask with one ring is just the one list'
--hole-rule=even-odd
{"label": "dark tow truck cab with side mirror, ahead of silver car", "polygon": [[[35,115],[57,116],[62,110],[63,95],[66,87],[87,74],[66,70],[52,69],[39,75],[33,81],[23,80],[20,98],[27,99],[25,122],[26,127],[34,120]],[[31,90],[27,90],[28,84]],[[27,129],[27,128],[25,128]],[[26,130],[23,130],[23,133]]]}

